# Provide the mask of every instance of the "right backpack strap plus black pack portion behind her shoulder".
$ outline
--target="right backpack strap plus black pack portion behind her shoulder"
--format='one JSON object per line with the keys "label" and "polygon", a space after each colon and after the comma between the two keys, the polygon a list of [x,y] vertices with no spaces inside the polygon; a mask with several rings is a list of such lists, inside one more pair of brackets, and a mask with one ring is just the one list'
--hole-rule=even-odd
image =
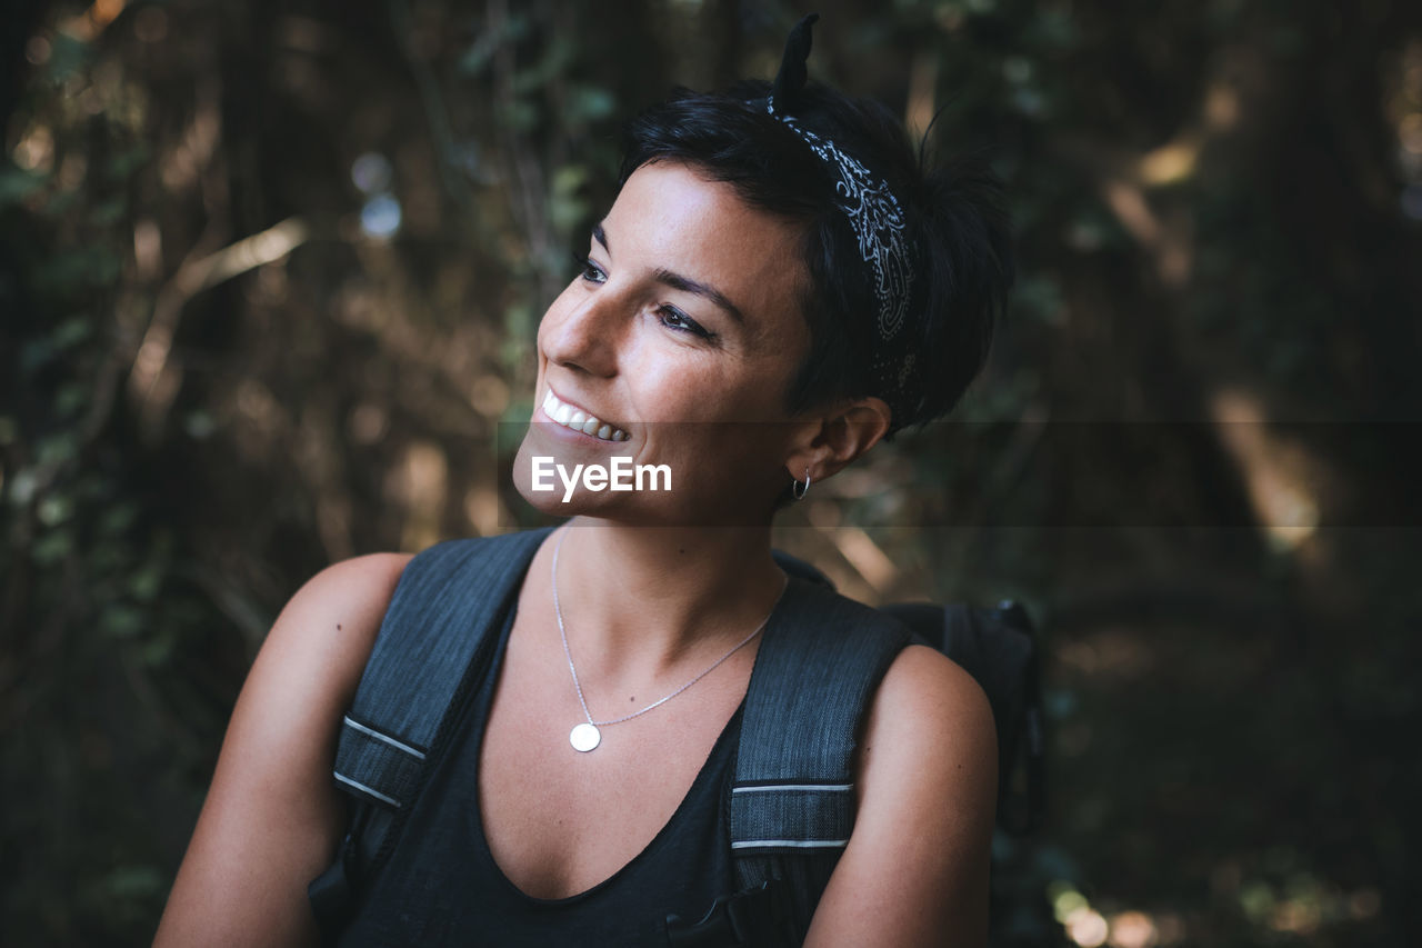
{"label": "right backpack strap plus black pack portion behind her shoulder", "polygon": [[809,564],[778,551],[775,559],[795,578],[786,591],[795,599],[782,611],[785,621],[766,628],[747,695],[731,791],[731,846],[742,888],[700,921],[668,917],[675,948],[803,941],[853,831],[856,727],[909,641],[946,653],[987,693],[1000,737],[1000,821],[1011,823],[1004,804],[1021,757],[1025,827],[1042,814],[1037,646],[1020,605],[869,609],[833,595],[829,579]]}

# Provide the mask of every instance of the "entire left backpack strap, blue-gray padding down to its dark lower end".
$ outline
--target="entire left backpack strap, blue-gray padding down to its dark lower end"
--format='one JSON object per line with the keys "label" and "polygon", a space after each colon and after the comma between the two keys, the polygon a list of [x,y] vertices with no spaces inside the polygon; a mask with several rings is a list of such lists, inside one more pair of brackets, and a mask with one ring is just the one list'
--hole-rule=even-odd
{"label": "entire left backpack strap, blue-gray padding down to its dark lower end", "polygon": [[358,887],[400,838],[427,764],[442,752],[547,534],[438,544],[401,574],[336,749],[333,777],[351,797],[350,830],[336,863],[307,888],[327,937],[350,920]]}

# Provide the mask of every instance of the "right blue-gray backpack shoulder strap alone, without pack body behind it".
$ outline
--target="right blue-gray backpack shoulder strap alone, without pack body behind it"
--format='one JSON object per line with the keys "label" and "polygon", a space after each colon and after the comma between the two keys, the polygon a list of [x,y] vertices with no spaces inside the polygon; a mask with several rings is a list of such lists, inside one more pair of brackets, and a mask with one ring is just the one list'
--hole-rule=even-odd
{"label": "right blue-gray backpack shoulder strap alone, without pack body behind it", "polygon": [[799,944],[855,826],[860,722],[910,633],[819,582],[785,596],[745,696],[729,824],[741,888],[778,885]]}

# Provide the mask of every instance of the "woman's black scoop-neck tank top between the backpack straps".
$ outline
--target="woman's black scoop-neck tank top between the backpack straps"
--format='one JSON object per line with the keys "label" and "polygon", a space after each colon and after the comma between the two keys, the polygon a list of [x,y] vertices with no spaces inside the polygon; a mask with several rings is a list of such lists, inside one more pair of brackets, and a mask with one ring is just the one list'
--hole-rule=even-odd
{"label": "woman's black scoop-neck tank top between the backpack straps", "polygon": [[549,900],[526,895],[503,875],[483,836],[478,762],[512,626],[510,609],[469,713],[340,945],[664,947],[668,914],[701,918],[718,897],[735,891],[727,810],[739,709],[671,820],[610,878]]}

